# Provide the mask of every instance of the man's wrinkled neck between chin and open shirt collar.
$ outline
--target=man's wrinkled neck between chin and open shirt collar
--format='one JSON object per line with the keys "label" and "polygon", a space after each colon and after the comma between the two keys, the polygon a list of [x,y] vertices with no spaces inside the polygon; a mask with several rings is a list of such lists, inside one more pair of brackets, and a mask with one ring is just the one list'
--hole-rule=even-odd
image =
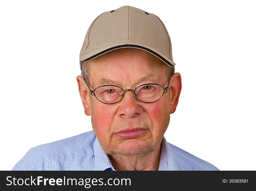
{"label": "man's wrinkled neck between chin and open shirt collar", "polygon": [[115,170],[158,170],[161,156],[161,145],[158,149],[137,155],[109,155]]}

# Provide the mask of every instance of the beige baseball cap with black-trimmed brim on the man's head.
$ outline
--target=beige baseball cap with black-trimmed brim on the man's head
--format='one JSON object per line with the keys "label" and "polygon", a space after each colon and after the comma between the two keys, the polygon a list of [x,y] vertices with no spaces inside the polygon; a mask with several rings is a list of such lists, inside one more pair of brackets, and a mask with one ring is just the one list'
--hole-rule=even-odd
{"label": "beige baseball cap with black-trimmed brim on the man's head", "polygon": [[170,36],[159,17],[135,7],[122,6],[94,19],[80,51],[80,69],[83,61],[124,47],[143,49],[175,66]]}

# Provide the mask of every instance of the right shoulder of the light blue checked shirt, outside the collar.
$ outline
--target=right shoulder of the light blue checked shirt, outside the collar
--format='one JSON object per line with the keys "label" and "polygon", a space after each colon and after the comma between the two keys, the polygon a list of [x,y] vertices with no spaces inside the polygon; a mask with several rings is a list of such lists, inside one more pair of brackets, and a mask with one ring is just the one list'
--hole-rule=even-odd
{"label": "right shoulder of the light blue checked shirt, outside the collar", "polygon": [[214,165],[202,160],[173,144],[168,143],[175,162],[180,170],[219,170]]}

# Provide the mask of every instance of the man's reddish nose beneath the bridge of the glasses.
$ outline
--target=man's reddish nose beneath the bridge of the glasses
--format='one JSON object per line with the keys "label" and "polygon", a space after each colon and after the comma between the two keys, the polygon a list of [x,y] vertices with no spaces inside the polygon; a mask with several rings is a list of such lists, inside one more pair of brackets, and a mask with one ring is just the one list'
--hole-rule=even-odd
{"label": "man's reddish nose beneath the bridge of the glasses", "polygon": [[143,108],[139,105],[139,101],[134,97],[133,91],[126,91],[124,98],[120,101],[118,115],[121,117],[134,117],[143,113]]}

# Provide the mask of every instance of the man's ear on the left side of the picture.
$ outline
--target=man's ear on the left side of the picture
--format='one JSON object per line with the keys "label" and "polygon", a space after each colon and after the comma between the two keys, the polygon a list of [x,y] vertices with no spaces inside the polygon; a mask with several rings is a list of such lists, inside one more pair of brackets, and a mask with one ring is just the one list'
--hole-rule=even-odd
{"label": "man's ear on the left side of the picture", "polygon": [[78,84],[79,94],[83,102],[84,113],[86,115],[91,115],[92,103],[90,100],[90,92],[82,76],[77,76],[77,84]]}

